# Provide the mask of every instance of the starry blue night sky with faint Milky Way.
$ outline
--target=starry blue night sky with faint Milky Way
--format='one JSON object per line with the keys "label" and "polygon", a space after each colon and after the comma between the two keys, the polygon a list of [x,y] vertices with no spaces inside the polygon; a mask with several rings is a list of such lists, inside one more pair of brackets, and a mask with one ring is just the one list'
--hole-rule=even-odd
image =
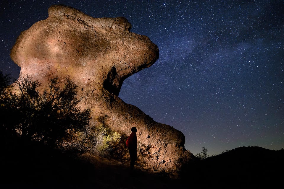
{"label": "starry blue night sky with faint Milky Way", "polygon": [[0,2],[0,70],[18,78],[10,49],[52,4],[92,17],[125,17],[159,59],[127,78],[119,97],[182,131],[194,155],[239,146],[284,148],[284,1]]}

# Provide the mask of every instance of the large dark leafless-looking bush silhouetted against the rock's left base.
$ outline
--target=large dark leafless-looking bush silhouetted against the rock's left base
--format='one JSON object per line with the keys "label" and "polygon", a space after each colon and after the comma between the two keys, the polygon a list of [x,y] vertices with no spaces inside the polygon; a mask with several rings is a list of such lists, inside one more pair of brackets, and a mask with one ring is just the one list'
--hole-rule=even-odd
{"label": "large dark leafless-looking bush silhouetted against the rock's left base", "polygon": [[1,140],[39,141],[56,146],[62,139],[84,132],[89,124],[89,108],[78,107],[78,86],[66,78],[49,80],[48,87],[40,92],[41,83],[30,76],[20,76],[12,82],[9,75],[0,73],[0,137]]}

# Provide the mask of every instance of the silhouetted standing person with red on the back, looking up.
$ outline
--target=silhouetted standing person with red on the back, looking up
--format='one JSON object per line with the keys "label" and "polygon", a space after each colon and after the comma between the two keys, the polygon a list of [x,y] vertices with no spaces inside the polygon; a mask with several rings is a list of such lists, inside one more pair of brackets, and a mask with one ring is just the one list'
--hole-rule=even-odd
{"label": "silhouetted standing person with red on the back, looking up", "polygon": [[130,170],[132,171],[134,168],[134,164],[137,160],[137,136],[136,136],[137,129],[136,127],[132,127],[131,131],[132,132],[126,141],[126,146],[129,149]]}

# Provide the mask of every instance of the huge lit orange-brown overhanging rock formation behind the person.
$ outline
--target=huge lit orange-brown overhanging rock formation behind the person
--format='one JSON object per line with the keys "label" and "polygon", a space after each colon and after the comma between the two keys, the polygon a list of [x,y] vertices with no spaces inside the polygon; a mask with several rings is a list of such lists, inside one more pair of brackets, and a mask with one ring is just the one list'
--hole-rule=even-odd
{"label": "huge lit orange-brown overhanging rock formation behind the person", "polygon": [[53,5],[49,17],[22,32],[11,50],[11,58],[46,87],[52,76],[66,76],[79,85],[82,108],[94,118],[104,117],[115,131],[128,136],[137,127],[138,162],[146,168],[175,172],[191,158],[184,149],[183,133],[157,123],[119,97],[125,78],[151,66],[159,50],[143,35],[130,32],[123,17],[93,18],[76,9]]}

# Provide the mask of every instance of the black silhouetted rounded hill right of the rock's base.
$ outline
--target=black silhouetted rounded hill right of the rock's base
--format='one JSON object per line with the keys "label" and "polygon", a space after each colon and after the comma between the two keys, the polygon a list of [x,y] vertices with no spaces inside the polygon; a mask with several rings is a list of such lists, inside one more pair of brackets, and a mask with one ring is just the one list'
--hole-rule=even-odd
{"label": "black silhouetted rounded hill right of the rock's base", "polygon": [[[258,146],[238,147],[208,157],[191,165],[183,180],[192,178],[204,186],[263,186],[279,185],[283,180],[284,150],[270,150]],[[193,172],[192,172],[193,171]]]}

